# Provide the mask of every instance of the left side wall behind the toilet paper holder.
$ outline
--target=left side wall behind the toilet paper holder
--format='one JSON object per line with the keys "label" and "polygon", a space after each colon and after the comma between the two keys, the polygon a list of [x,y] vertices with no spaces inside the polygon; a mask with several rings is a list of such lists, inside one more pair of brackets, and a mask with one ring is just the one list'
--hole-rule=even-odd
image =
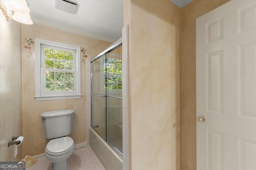
{"label": "left side wall behind the toilet paper holder", "polygon": [[22,135],[21,24],[0,13],[0,161],[18,161],[23,144],[14,159],[14,146],[7,143]]}

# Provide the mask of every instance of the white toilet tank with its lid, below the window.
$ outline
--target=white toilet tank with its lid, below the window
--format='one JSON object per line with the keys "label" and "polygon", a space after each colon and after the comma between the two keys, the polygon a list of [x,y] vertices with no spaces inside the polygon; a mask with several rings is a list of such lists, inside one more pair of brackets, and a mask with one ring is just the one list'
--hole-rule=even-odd
{"label": "white toilet tank with its lid, below the window", "polygon": [[73,109],[45,111],[42,113],[44,137],[53,139],[72,133],[73,114]]}

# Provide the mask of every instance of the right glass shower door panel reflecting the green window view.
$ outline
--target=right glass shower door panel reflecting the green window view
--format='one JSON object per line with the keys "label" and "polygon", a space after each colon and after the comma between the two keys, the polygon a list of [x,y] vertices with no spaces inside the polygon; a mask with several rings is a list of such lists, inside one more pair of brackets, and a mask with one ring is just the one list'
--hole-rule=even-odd
{"label": "right glass shower door panel reflecting the green window view", "polygon": [[107,142],[122,155],[122,45],[106,53]]}

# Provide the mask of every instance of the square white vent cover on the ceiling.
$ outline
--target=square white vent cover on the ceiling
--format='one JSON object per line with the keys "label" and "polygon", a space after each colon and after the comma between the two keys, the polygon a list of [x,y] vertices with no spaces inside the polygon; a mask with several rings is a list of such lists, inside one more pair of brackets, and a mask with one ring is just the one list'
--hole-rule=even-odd
{"label": "square white vent cover on the ceiling", "polygon": [[55,2],[55,8],[70,14],[75,14],[77,3],[69,0],[56,0]]}

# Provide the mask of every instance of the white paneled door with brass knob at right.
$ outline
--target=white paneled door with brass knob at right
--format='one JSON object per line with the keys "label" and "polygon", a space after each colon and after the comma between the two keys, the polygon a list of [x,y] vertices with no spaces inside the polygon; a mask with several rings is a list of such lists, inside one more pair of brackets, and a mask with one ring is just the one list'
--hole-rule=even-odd
{"label": "white paneled door with brass knob at right", "polygon": [[196,115],[197,170],[256,170],[256,0],[196,20]]}

